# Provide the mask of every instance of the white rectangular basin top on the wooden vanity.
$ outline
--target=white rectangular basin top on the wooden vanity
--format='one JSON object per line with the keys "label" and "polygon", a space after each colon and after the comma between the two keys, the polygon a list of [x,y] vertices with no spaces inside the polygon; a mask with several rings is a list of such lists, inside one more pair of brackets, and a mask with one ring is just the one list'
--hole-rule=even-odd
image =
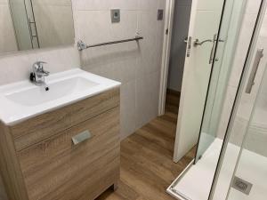
{"label": "white rectangular basin top on the wooden vanity", "polygon": [[48,76],[46,84],[47,92],[44,86],[29,81],[0,86],[0,120],[6,125],[18,124],[120,85],[78,68]]}

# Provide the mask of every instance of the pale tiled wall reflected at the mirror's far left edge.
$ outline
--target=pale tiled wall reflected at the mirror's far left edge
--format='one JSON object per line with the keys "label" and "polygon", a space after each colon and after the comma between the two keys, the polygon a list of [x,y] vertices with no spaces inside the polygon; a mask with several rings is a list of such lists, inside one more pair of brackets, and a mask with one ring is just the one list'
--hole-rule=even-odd
{"label": "pale tiled wall reflected at the mirror's far left edge", "polygon": [[0,0],[0,53],[17,50],[8,0]]}

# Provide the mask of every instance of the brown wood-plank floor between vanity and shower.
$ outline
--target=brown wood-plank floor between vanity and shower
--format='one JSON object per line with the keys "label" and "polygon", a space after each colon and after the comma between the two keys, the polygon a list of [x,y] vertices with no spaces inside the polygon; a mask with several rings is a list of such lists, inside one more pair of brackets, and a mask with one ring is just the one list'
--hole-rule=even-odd
{"label": "brown wood-plank floor between vanity and shower", "polygon": [[174,112],[166,111],[165,116],[157,117],[121,142],[118,188],[115,192],[108,189],[98,200],[174,199],[166,194],[166,188],[195,154],[192,149],[178,164],[173,162],[177,112],[178,108]]}

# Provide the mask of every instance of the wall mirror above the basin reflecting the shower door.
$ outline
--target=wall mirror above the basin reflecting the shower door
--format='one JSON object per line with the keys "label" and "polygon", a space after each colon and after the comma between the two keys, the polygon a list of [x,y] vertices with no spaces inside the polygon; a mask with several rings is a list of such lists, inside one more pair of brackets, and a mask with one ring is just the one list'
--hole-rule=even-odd
{"label": "wall mirror above the basin reflecting the shower door", "polygon": [[74,44],[71,0],[0,0],[0,53]]}

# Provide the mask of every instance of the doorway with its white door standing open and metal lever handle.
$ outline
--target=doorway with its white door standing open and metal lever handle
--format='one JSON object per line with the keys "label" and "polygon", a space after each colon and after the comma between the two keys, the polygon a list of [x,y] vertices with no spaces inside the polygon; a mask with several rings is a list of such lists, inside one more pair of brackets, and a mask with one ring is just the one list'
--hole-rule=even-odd
{"label": "doorway with its white door standing open and metal lever handle", "polygon": [[[168,98],[169,93],[181,93],[180,102],[176,99],[179,112],[174,145],[175,163],[198,143],[211,74],[215,64],[221,66],[223,60],[224,48],[215,58],[217,45],[220,43],[224,46],[227,40],[227,36],[218,37],[224,5],[223,0],[196,0],[186,5],[184,1],[175,1],[174,4],[169,0],[166,6],[166,24],[169,25],[166,30],[170,30],[170,33],[166,34],[164,41],[159,115],[163,115],[166,108],[170,107],[166,107],[169,99],[174,99]],[[186,11],[187,15],[179,17],[181,13],[176,13],[176,9]],[[177,104],[171,102],[171,106],[176,108]],[[211,113],[212,110],[213,106],[210,107]]]}

